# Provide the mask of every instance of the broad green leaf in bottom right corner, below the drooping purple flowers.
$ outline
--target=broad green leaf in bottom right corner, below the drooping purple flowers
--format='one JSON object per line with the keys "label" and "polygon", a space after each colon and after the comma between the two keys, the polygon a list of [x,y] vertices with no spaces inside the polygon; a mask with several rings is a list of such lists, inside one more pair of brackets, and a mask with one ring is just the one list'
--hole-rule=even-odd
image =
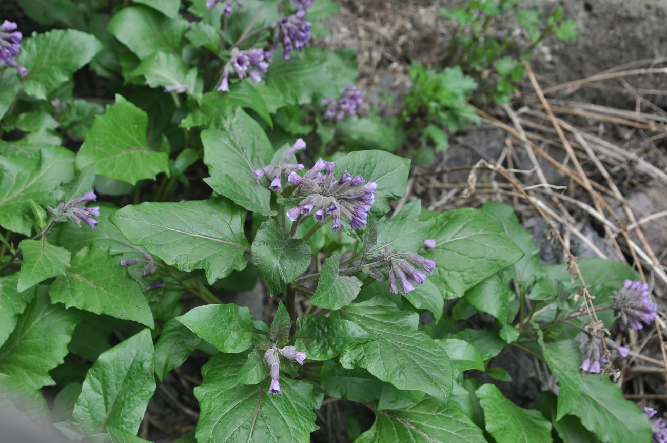
{"label": "broad green leaf in bottom right corner, below the drooping purple flowers", "polygon": [[605,443],[649,442],[652,432],[646,414],[608,376],[584,376],[584,395],[572,412],[586,429]]}

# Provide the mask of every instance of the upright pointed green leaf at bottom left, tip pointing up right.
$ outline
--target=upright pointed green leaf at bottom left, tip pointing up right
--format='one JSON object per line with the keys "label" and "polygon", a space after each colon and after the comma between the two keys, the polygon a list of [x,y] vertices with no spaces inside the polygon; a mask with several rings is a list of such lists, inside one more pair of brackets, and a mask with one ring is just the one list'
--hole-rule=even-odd
{"label": "upright pointed green leaf at bottom left, tip pointing up right", "polygon": [[137,434],[153,392],[153,340],[144,329],[99,356],[85,376],[72,420],[86,435],[106,426]]}

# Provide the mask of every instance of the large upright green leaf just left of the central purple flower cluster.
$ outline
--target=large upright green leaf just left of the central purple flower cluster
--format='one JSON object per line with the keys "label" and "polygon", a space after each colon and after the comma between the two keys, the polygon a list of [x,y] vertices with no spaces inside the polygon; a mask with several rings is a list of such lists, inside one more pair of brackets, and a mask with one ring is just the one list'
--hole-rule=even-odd
{"label": "large upright green leaf just left of the central purple flower cluster", "polygon": [[253,171],[269,164],[273,147],[259,124],[243,109],[223,110],[221,130],[201,133],[204,163],[211,177],[205,178],[213,191],[262,215],[271,215],[271,192],[265,179],[255,179]]}

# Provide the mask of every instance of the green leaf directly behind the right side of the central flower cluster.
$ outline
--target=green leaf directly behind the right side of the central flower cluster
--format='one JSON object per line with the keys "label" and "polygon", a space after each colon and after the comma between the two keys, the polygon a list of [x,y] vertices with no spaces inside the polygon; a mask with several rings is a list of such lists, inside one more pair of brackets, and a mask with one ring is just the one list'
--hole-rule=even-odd
{"label": "green leaf directly behind the right side of the central flower cluster", "polygon": [[336,160],[336,176],[340,177],[346,170],[378,183],[372,210],[384,215],[390,209],[388,200],[406,193],[410,160],[384,151],[356,151]]}

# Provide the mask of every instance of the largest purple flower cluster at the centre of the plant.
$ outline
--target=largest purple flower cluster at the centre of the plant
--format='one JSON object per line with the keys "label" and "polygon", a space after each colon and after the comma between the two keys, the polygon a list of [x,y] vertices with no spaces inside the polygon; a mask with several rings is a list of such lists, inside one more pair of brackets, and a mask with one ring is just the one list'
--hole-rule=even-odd
{"label": "largest purple flower cluster at the centre of the plant", "polygon": [[348,171],[337,180],[333,176],[335,166],[333,161],[320,158],[303,177],[290,169],[285,171],[287,181],[299,186],[295,195],[305,195],[298,205],[287,211],[291,221],[312,213],[315,221],[323,223],[325,214],[328,214],[333,219],[333,231],[340,230],[341,218],[348,220],[353,230],[366,226],[378,185],[373,181],[366,183],[361,175],[352,177]]}

